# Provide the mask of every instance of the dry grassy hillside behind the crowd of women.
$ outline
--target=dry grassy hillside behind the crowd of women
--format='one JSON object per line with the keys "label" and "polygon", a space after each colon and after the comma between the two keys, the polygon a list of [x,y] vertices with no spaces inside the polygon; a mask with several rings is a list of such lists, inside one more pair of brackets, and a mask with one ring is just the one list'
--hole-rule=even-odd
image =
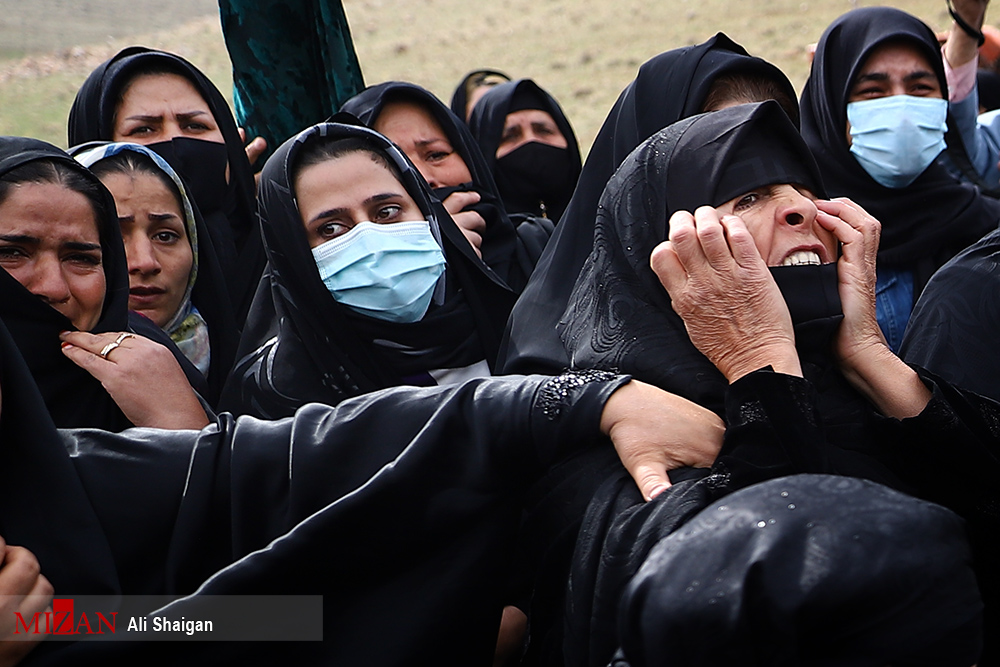
{"label": "dry grassy hillside behind the crowd of women", "polygon": [[[935,30],[944,0],[345,0],[365,81],[413,81],[445,102],[469,70],[535,79],[560,101],[586,152],[639,65],[723,31],[797,89],[806,47],[854,6],[888,4]],[[229,92],[215,0],[0,0],[0,134],[66,143],[76,90],[129,44],[188,58]],[[987,16],[987,20],[990,20]],[[141,19],[141,20],[140,20]],[[12,52],[11,45],[20,52]]]}

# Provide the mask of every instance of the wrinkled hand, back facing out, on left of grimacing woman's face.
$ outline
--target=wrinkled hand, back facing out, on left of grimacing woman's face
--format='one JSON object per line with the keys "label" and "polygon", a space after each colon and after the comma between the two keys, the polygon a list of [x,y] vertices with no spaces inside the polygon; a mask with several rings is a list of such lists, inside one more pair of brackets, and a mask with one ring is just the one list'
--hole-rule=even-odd
{"label": "wrinkled hand, back facing out, on left of grimacing woman's face", "polygon": [[650,264],[695,347],[729,382],[768,365],[801,376],[788,306],[743,221],[678,211],[669,238]]}

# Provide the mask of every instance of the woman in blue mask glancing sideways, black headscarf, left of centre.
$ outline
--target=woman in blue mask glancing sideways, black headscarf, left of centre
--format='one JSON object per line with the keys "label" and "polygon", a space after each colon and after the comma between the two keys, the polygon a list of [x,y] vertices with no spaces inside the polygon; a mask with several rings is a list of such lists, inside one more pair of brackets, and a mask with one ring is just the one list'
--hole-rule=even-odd
{"label": "woman in blue mask glancing sideways, black headscarf, left of centre", "polygon": [[226,409],[273,419],[491,374],[514,294],[388,139],[305,130],[268,160],[259,204],[270,268]]}

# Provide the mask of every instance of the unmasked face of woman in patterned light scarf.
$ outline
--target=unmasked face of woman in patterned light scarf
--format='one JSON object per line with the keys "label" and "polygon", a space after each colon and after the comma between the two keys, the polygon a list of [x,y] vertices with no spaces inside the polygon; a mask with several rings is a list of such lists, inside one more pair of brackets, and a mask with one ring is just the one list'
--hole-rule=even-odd
{"label": "unmasked face of woman in patterned light scarf", "polygon": [[156,176],[114,172],[101,181],[115,198],[128,257],[128,307],[165,326],[180,309],[194,254],[184,212]]}

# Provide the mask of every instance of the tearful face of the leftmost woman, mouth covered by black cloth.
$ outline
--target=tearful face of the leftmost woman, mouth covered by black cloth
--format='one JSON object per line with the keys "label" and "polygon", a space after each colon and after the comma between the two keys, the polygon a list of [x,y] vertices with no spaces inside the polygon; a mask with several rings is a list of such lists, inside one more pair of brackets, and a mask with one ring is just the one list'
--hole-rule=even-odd
{"label": "tearful face of the leftmost woman, mouth covered by black cloth", "polygon": [[104,265],[90,200],[56,183],[20,183],[0,203],[0,266],[90,331],[104,306]]}

